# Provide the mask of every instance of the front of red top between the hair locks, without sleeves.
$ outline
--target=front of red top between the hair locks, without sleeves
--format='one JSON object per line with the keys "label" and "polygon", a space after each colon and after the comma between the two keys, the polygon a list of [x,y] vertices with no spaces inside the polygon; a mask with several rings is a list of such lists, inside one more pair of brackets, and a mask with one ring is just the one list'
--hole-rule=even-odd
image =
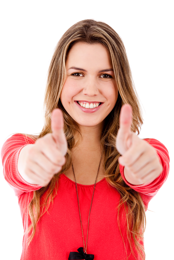
{"label": "front of red top between the hair locks, without sleeves", "polygon": [[[94,185],[77,185],[82,220],[84,241],[86,245],[88,216]],[[117,222],[117,206],[120,195],[109,186],[105,179],[96,184],[89,217],[87,254],[94,254],[95,260],[105,255],[109,259],[126,259],[124,243],[120,230],[127,244],[125,220]],[[27,239],[24,238],[24,244]],[[38,259],[68,259],[69,253],[77,252],[83,247],[82,230],[77,202],[76,187],[73,181],[62,175],[59,189],[54,198],[49,214],[45,213],[37,225],[37,230],[27,254],[36,254]],[[111,250],[111,248],[113,250]],[[24,248],[25,249],[25,248]],[[45,250],[46,249],[46,250]]]}

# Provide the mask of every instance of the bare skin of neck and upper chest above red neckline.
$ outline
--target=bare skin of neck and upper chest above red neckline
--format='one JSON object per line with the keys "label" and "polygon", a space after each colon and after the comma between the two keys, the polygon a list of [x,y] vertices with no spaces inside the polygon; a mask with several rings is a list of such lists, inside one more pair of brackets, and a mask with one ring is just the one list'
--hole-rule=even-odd
{"label": "bare skin of neck and upper chest above red neckline", "polygon": [[[72,149],[72,160],[75,178],[79,184],[91,185],[95,183],[102,153],[102,147],[100,146],[102,128],[103,125],[93,127],[80,126],[82,138],[79,138],[79,135],[75,136],[75,140],[79,141],[76,142]],[[64,174],[71,180],[75,181],[72,167],[70,167]],[[97,182],[103,178],[103,175],[104,169],[101,160]]]}

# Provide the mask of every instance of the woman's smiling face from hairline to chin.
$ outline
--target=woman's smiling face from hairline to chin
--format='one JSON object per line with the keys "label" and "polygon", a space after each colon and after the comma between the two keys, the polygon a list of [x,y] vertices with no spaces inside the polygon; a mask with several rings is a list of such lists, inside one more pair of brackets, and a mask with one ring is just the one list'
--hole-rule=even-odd
{"label": "woman's smiling face from hairline to chin", "polygon": [[109,51],[101,44],[78,42],[66,61],[61,102],[80,126],[97,126],[116,104],[118,89]]}

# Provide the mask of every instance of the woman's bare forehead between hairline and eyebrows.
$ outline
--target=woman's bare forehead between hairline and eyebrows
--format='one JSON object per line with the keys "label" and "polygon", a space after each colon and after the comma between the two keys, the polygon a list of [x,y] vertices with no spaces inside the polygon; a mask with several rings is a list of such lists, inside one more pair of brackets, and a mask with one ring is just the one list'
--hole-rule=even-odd
{"label": "woman's bare forehead between hairline and eyebrows", "polygon": [[85,42],[75,43],[69,50],[66,66],[93,66],[112,67],[110,53],[101,43],[89,44]]}

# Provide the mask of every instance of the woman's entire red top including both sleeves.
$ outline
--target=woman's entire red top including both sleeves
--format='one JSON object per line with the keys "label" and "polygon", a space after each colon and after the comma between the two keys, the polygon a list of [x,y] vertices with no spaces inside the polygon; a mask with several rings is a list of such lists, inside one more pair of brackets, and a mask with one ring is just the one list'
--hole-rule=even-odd
{"label": "woman's entire red top including both sleeves", "polygon": [[[131,185],[124,178],[124,167],[120,165],[121,175],[130,187],[138,191],[145,206],[155,196],[166,181],[169,172],[169,154],[166,147],[155,139],[146,139],[156,150],[163,165],[163,172],[152,183]],[[21,148],[34,141],[26,136],[15,134],[11,136],[2,147],[2,163],[4,177],[14,189],[18,197],[24,231],[28,228],[30,220],[27,215],[27,205],[33,196],[33,191],[40,189],[39,185],[32,185],[22,179],[17,171],[17,159]],[[91,205],[94,185],[77,184],[84,240],[86,245],[88,215]],[[93,254],[94,260],[123,260],[126,252],[117,224],[117,210],[120,195],[109,185],[106,179],[100,180],[94,191],[91,208],[87,254]],[[77,202],[75,182],[64,174],[59,179],[59,189],[49,208],[38,222],[35,236],[27,248],[27,234],[23,236],[21,260],[67,260],[70,251],[77,252],[83,247],[83,238]],[[125,216],[120,218],[120,228],[124,238],[127,254],[130,247],[127,239]],[[137,259],[140,257],[135,253]],[[135,259],[132,255],[129,260]]]}

